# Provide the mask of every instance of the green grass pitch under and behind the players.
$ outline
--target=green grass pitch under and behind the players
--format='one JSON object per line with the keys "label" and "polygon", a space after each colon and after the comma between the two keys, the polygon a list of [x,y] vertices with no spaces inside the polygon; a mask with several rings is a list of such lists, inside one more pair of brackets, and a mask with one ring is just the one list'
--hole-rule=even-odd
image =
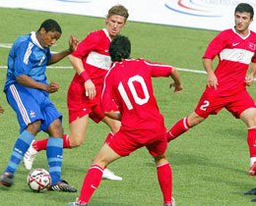
{"label": "green grass pitch under and behind the players", "polygon": [[[104,20],[100,18],[0,8],[0,43],[13,43],[19,35],[36,30],[48,18],[55,19],[63,29],[62,37],[52,47],[53,51],[66,49],[70,34],[83,40],[89,32],[104,27]],[[132,58],[144,58],[177,68],[201,71],[204,70],[202,56],[217,33],[135,22],[129,22],[122,31],[132,42]],[[8,53],[8,48],[0,47],[0,66],[7,65]],[[71,65],[65,59],[54,66]],[[67,90],[74,74],[74,70],[47,70],[48,80],[56,80],[61,87],[50,98],[63,114],[65,133],[69,133]],[[0,69],[2,88],[5,76],[6,69]],[[180,76],[184,90],[178,95],[168,89],[170,78],[154,78],[155,95],[167,129],[195,109],[206,85],[207,76],[204,74],[180,72]],[[253,98],[256,95],[255,86],[254,84],[248,88]],[[2,173],[19,135],[19,125],[3,92],[0,92],[0,105],[5,109],[5,113],[0,115]],[[74,201],[80,194],[84,177],[108,131],[105,125],[96,125],[91,121],[84,144],[76,149],[64,150],[62,178],[76,186],[78,193],[32,192],[27,185],[29,171],[21,163],[14,185],[11,188],[0,185],[0,205],[64,206]],[[36,139],[46,136],[46,133],[40,132]],[[255,178],[248,175],[249,151],[246,138],[246,126],[223,110],[218,116],[211,116],[201,125],[170,142],[166,153],[172,168],[176,206],[255,205],[250,201],[253,196],[243,195],[244,191],[256,187]],[[44,151],[37,155],[33,168],[47,169]],[[114,162],[109,169],[123,177],[123,180],[102,180],[90,206],[162,205],[156,167],[145,148]]]}

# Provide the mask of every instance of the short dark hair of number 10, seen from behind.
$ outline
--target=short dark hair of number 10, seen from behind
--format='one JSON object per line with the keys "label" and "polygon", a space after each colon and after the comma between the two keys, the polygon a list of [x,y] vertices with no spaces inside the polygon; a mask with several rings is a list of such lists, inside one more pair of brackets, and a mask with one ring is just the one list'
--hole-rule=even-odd
{"label": "short dark hair of number 10, seen from behind", "polygon": [[116,35],[109,45],[109,54],[112,62],[121,62],[131,54],[131,42],[124,35]]}

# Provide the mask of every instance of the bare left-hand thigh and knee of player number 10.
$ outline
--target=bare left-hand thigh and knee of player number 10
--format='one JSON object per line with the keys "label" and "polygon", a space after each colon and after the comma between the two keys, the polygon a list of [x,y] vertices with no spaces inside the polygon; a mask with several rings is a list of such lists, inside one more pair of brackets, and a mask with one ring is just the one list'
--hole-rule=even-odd
{"label": "bare left-hand thigh and knee of player number 10", "polygon": [[117,160],[121,156],[118,155],[108,144],[104,144],[94,159],[93,165],[98,165],[101,168],[106,167],[111,162]]}

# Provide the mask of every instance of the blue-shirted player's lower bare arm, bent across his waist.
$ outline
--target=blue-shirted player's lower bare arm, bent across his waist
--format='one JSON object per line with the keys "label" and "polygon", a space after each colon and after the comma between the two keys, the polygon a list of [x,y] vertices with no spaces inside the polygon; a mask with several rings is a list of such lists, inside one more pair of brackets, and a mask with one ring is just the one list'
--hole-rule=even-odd
{"label": "blue-shirted player's lower bare arm, bent across his waist", "polygon": [[53,81],[47,85],[47,84],[38,82],[38,81],[32,79],[32,77],[29,77],[26,75],[18,76],[18,77],[16,77],[16,80],[18,81],[18,83],[20,83],[26,87],[41,89],[41,90],[47,91],[49,93],[53,93],[59,89],[59,84],[55,81]]}

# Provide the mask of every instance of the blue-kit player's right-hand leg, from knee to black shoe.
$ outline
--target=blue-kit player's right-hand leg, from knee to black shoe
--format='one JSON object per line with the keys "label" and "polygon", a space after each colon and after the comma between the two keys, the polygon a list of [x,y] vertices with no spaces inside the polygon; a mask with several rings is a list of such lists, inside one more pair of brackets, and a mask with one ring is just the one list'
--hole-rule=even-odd
{"label": "blue-kit player's right-hand leg, from knee to black shoe", "polygon": [[72,187],[65,180],[61,180],[61,167],[63,157],[63,127],[60,119],[54,120],[48,127],[48,143],[46,156],[49,165],[49,174],[51,176],[50,190],[76,192],[77,189]]}

